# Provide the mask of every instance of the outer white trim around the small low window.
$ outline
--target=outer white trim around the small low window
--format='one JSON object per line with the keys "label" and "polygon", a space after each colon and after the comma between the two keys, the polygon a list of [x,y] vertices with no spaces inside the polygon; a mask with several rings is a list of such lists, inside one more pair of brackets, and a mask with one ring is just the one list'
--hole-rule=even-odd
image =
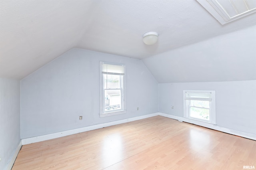
{"label": "outer white trim around the small low window", "polygon": [[[188,100],[186,100],[186,92],[188,93],[211,93],[212,94],[212,100],[211,100],[211,104],[210,104],[210,121],[204,121],[202,119],[196,119],[196,118],[192,118],[189,117],[189,113],[188,113]],[[202,99],[204,100],[204,99]],[[184,111],[184,117],[187,119],[192,119],[195,121],[200,121],[200,122],[205,122],[205,123],[210,123],[213,125],[216,125],[216,103],[215,103],[215,91],[202,91],[202,90],[183,90],[183,111]]]}

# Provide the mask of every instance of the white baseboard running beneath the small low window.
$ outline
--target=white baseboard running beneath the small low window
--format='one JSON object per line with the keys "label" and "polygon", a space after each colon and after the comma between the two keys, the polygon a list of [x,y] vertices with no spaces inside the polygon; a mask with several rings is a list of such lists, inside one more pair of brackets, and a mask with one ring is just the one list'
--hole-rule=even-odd
{"label": "white baseboard running beneath the small low window", "polygon": [[241,137],[244,137],[244,138],[256,140],[256,134],[243,132],[243,131],[235,130],[235,129],[230,129],[230,128],[226,128],[226,127],[221,127],[221,126],[213,125],[213,124],[210,124],[210,123],[204,123],[204,122],[200,122],[200,121],[196,121],[196,120],[192,120],[192,119],[188,119],[188,118],[184,118],[184,117],[169,115],[169,114],[166,114],[166,113],[160,113],[159,112],[159,115],[164,116],[164,117],[168,117],[168,118],[171,118],[171,119],[176,119],[178,121],[183,121],[183,122],[186,122],[186,123],[192,123],[194,125],[198,125],[198,126],[201,126],[201,127],[206,127],[206,128],[218,130],[220,132],[225,132],[225,133],[228,133],[228,134],[234,134],[236,136],[241,136]]}

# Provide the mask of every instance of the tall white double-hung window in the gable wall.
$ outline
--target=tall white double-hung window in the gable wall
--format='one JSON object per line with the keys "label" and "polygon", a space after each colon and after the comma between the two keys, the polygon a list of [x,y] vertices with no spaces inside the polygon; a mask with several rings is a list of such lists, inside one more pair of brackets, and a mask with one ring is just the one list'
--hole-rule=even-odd
{"label": "tall white double-hung window in the gable wall", "polygon": [[100,117],[126,113],[125,65],[100,62]]}

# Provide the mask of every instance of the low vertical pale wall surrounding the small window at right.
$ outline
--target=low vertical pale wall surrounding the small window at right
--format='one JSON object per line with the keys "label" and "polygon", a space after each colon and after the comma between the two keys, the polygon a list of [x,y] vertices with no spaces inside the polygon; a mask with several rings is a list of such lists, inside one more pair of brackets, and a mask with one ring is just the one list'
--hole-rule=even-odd
{"label": "low vertical pale wall surrounding the small window at right", "polygon": [[183,117],[183,90],[215,90],[216,124],[256,134],[256,80],[160,83],[159,112]]}

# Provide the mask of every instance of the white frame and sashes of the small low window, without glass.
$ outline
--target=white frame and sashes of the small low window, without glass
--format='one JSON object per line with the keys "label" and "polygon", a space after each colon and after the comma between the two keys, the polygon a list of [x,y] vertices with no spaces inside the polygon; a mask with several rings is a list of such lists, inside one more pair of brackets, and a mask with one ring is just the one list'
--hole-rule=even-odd
{"label": "white frame and sashes of the small low window, without glass", "polygon": [[[208,120],[204,120],[204,119],[199,119],[199,118],[194,118],[194,117],[190,117],[189,111],[190,111],[190,107],[192,107],[190,105],[191,101],[193,98],[190,99],[190,97],[187,97],[187,93],[194,93],[195,95],[201,96],[201,97],[195,97],[194,99],[198,100],[198,101],[209,101],[209,121]],[[202,96],[207,96],[209,95],[210,97],[202,97]],[[184,117],[187,119],[192,119],[192,120],[196,120],[196,121],[201,121],[201,122],[205,122],[205,123],[210,123],[213,125],[216,125],[216,103],[215,103],[215,91],[202,91],[202,90],[184,90],[183,91],[183,106],[184,106]],[[208,109],[208,108],[203,108],[202,109]]]}

